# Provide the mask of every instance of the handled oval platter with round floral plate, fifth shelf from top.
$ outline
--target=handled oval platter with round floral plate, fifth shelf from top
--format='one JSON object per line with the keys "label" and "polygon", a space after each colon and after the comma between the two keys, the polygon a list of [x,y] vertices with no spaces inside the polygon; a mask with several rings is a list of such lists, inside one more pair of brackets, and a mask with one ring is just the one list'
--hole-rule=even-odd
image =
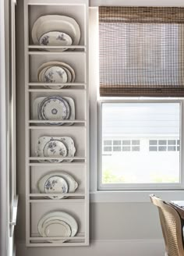
{"label": "handled oval platter with round floral plate, fifth shelf from top", "polygon": [[[66,172],[49,172],[37,182],[37,189],[44,194],[74,193],[78,183]],[[51,199],[62,199],[66,196],[48,196]]]}

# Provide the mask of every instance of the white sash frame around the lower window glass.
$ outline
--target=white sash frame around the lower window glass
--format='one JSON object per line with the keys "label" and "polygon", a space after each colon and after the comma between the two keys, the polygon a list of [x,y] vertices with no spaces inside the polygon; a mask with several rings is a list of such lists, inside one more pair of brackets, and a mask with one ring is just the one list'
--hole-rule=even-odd
{"label": "white sash frame around the lower window glass", "polygon": [[184,157],[182,147],[179,154],[179,183],[102,183],[102,105],[104,103],[179,103],[180,105],[180,120],[179,120],[179,138],[182,141],[182,133],[184,128],[182,126],[184,117],[184,100],[126,100],[126,99],[103,99],[98,101],[98,172],[97,172],[97,189],[98,190],[170,190],[170,189],[183,189],[184,188],[184,176],[182,175],[182,158]]}

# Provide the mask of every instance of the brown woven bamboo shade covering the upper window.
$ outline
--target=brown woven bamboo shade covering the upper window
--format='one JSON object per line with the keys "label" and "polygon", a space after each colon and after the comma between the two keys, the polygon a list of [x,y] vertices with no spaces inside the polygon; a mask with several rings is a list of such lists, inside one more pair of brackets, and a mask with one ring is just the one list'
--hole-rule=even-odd
{"label": "brown woven bamboo shade covering the upper window", "polygon": [[184,96],[184,8],[99,7],[101,96]]}

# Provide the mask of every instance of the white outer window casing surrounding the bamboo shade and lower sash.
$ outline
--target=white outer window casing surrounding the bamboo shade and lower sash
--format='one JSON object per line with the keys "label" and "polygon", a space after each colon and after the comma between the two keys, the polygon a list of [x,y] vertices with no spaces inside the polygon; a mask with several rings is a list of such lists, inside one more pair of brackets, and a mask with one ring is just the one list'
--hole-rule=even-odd
{"label": "white outer window casing surrounding the bamboo shade and lower sash", "polygon": [[[180,0],[181,1],[181,0]],[[116,1],[117,2],[117,1]],[[141,2],[141,0],[140,0]],[[161,3],[158,1],[158,3]],[[123,202],[123,203],[133,203],[133,202],[150,202],[149,194],[157,194],[164,198],[166,201],[170,200],[183,200],[184,190],[182,187],[172,188],[172,189],[157,189],[153,190],[99,190],[98,188],[98,108],[99,108],[99,91],[97,87],[99,86],[99,58],[98,58],[98,12],[97,5],[103,5],[101,1],[94,1],[94,4],[90,3],[90,16],[89,16],[89,92],[90,92],[90,202],[94,203],[106,203],[106,202]],[[111,5],[111,1],[105,1],[104,5]],[[115,4],[116,5],[116,4]],[[117,5],[129,5],[129,2],[119,1]],[[137,5],[137,1],[133,0],[132,5]],[[141,4],[140,4],[141,5]],[[143,5],[154,6],[155,2],[143,2]],[[158,5],[158,4],[157,4]],[[164,6],[164,5],[163,5]],[[165,6],[184,6],[183,2],[176,4],[171,0],[171,2],[166,2]],[[141,101],[143,98],[132,98],[136,101]],[[105,99],[104,99],[105,100]],[[131,98],[127,98],[131,100]],[[148,99],[149,100],[149,99]],[[165,101],[169,98],[165,99]],[[173,99],[174,100],[174,99]],[[175,100],[183,100],[183,98],[175,98]],[[184,103],[182,104],[184,105]],[[182,111],[184,114],[184,112]],[[182,118],[182,127],[184,129],[184,116]],[[183,133],[183,132],[182,132]],[[180,138],[180,150],[182,150],[182,145],[184,144],[183,138]],[[183,158],[181,157],[181,165],[183,166]],[[182,180],[184,176],[184,170],[182,169],[181,175]]]}

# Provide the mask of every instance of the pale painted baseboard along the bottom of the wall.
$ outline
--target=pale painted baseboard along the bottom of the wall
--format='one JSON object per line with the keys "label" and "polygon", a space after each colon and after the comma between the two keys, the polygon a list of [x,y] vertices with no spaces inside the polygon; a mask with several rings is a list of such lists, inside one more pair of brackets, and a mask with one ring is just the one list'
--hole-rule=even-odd
{"label": "pale painted baseboard along the bottom of the wall", "polygon": [[[25,243],[17,241],[17,255],[19,256],[56,256],[61,254],[61,248],[26,248]],[[89,247],[62,247],[62,254],[65,256],[106,255],[106,256],[155,256],[165,254],[165,245],[162,239],[137,239],[137,240],[90,240]]]}

